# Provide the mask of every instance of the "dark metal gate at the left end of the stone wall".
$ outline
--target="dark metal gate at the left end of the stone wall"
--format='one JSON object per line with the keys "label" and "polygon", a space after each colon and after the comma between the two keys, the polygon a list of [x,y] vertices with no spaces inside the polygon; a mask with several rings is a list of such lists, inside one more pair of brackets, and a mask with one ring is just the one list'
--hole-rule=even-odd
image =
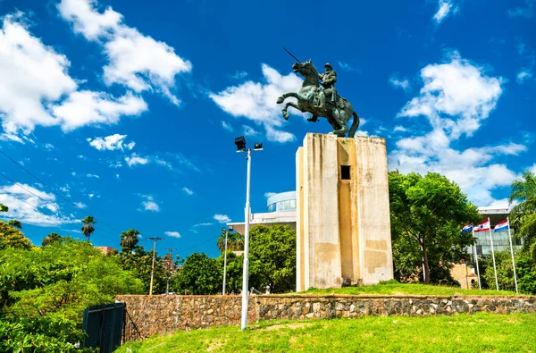
{"label": "dark metal gate at the left end of the stone wall", "polygon": [[125,303],[86,307],[82,330],[88,333],[84,347],[100,349],[100,353],[111,353],[121,346]]}

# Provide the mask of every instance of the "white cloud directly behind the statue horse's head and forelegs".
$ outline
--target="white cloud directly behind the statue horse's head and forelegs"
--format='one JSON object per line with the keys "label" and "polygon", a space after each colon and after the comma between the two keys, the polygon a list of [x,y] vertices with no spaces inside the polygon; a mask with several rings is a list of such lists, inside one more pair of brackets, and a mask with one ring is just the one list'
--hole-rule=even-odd
{"label": "white cloud directly behind the statue horse's head and forelegs", "polygon": [[[272,67],[263,64],[264,83],[248,80],[239,86],[226,88],[219,93],[211,93],[209,97],[223,111],[235,117],[244,117],[257,125],[263,125],[266,137],[271,141],[289,142],[294,135],[276,130],[283,126],[281,116],[282,105],[276,103],[277,98],[286,92],[297,92],[301,87],[300,80],[294,73],[282,76]],[[301,114],[293,108],[289,113]]]}

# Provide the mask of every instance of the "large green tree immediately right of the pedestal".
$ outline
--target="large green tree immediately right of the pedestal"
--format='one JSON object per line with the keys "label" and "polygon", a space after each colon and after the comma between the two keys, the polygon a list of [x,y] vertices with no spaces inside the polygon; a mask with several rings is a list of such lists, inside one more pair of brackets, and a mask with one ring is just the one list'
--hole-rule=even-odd
{"label": "large green tree immediately right of the pedestal", "polygon": [[[389,172],[389,206],[393,260],[398,277],[423,268],[424,282],[452,282],[450,264],[466,259],[474,243],[466,223],[478,223],[478,209],[461,189],[438,173],[424,177]],[[406,256],[398,257],[405,254]]]}

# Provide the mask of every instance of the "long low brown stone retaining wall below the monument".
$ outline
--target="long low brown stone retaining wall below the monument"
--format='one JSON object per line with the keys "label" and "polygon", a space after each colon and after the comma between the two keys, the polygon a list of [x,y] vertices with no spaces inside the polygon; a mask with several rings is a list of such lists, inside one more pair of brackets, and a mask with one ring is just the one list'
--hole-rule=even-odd
{"label": "long low brown stone retaining wall below the monument", "polygon": [[[240,324],[240,296],[118,296],[127,304],[124,340],[155,333]],[[536,297],[252,296],[249,323],[274,319],[325,319],[364,315],[455,315],[488,312],[536,314]]]}

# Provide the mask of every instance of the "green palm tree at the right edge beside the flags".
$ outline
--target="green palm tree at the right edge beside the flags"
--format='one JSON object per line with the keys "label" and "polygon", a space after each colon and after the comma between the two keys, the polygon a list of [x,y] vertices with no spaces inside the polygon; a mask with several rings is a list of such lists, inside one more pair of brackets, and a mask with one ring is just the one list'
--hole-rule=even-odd
{"label": "green palm tree at the right edge beside the flags", "polygon": [[536,175],[523,172],[520,179],[512,182],[509,202],[519,202],[510,213],[515,238],[523,240],[523,251],[528,251],[536,260]]}

